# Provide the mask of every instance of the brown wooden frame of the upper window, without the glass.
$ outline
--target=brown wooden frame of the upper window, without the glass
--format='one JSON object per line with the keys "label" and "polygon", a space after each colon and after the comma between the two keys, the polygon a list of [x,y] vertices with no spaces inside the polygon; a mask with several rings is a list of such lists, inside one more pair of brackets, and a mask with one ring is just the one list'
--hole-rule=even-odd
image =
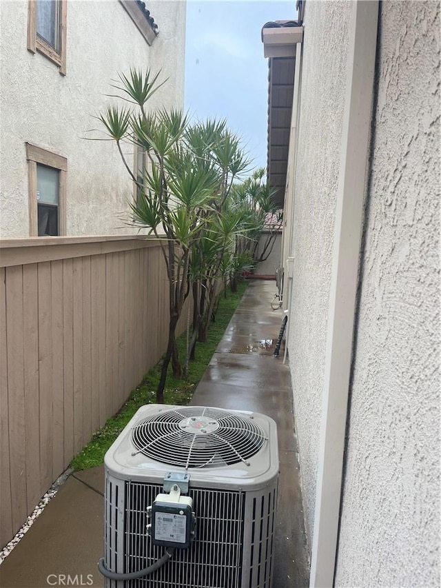
{"label": "brown wooden frame of the upper window, without the glass", "polygon": [[66,74],[66,21],[67,0],[59,2],[59,51],[54,49],[45,39],[37,34],[37,0],[28,0],[28,50],[32,53],[42,53],[53,63],[58,65],[61,75]]}

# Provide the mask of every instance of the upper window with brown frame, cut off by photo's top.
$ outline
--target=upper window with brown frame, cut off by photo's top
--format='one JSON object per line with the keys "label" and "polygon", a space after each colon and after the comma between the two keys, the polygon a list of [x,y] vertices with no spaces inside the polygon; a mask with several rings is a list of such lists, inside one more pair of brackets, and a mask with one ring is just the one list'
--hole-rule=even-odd
{"label": "upper window with brown frame, cut off by photo's top", "polygon": [[67,0],[29,0],[28,49],[39,51],[66,72]]}

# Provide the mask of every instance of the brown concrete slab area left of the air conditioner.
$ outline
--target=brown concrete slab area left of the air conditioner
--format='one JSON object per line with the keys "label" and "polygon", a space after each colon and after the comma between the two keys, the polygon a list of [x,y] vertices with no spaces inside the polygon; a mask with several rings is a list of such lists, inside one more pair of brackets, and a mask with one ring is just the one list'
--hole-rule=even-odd
{"label": "brown concrete slab area left of the air conditioner", "polygon": [[102,466],[68,478],[3,561],[1,588],[103,587],[103,480]]}

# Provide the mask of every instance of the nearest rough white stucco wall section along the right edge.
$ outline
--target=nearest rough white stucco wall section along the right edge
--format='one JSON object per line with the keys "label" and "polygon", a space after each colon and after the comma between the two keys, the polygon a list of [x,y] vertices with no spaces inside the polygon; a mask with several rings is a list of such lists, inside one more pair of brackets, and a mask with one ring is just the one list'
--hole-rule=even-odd
{"label": "nearest rough white stucco wall section along the right edge", "polygon": [[383,2],[337,586],[439,586],[440,4]]}

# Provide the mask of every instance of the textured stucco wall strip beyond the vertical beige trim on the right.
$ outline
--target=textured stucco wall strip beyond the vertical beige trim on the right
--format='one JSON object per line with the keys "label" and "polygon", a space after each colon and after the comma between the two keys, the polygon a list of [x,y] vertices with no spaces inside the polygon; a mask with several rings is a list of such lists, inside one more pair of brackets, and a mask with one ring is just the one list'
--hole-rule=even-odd
{"label": "textured stucco wall strip beyond the vertical beige trim on the right", "polygon": [[[350,3],[308,2],[294,183],[289,357],[311,544]],[[289,176],[293,177],[292,161]],[[289,194],[293,198],[293,194]],[[287,276],[285,274],[285,283]]]}

